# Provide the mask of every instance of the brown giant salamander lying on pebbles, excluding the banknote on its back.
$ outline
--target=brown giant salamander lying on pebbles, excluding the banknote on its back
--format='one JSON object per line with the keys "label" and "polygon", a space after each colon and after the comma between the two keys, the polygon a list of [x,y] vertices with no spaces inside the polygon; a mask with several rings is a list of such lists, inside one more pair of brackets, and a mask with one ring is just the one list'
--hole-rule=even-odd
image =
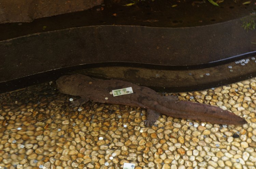
{"label": "brown giant salamander lying on pebbles, excluding the banknote on its back", "polygon": [[[216,106],[176,101],[169,96],[160,96],[154,90],[121,80],[102,80],[82,74],[61,76],[57,81],[57,89],[64,94],[80,96],[72,104],[79,106],[89,100],[100,103],[120,104],[147,109],[146,125],[153,125],[159,113],[174,118],[186,118],[213,124],[242,125],[246,121]],[[132,87],[133,94],[113,97],[110,92],[115,89]],[[108,99],[105,99],[105,98]]]}

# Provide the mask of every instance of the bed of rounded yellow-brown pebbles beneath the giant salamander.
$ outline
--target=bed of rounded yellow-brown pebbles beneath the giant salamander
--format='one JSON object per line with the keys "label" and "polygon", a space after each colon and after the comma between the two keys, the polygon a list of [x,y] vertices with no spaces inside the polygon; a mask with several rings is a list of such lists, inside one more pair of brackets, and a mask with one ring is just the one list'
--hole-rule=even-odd
{"label": "bed of rounded yellow-brown pebbles beneath the giant salamander", "polygon": [[[228,109],[248,124],[217,125],[160,116],[145,127],[137,107],[87,102],[71,107],[55,82],[0,94],[1,169],[255,169],[256,78],[176,93]],[[168,94],[166,94],[168,95]]]}

